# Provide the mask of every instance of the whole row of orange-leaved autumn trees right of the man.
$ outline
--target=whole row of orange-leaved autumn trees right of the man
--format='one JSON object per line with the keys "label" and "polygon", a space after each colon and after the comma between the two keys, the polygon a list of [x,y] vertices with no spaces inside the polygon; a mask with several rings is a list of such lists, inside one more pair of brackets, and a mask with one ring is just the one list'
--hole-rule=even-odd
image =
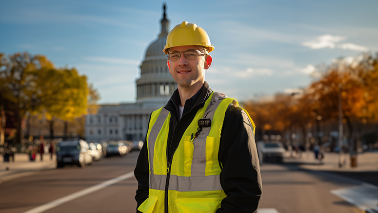
{"label": "whole row of orange-leaved autumn trees right of the man", "polygon": [[300,96],[276,94],[269,102],[246,103],[245,109],[257,127],[282,132],[296,127],[305,136],[317,116],[321,116],[322,122],[337,121],[339,85],[349,142],[356,127],[378,122],[378,55],[339,59],[318,71],[321,77]]}

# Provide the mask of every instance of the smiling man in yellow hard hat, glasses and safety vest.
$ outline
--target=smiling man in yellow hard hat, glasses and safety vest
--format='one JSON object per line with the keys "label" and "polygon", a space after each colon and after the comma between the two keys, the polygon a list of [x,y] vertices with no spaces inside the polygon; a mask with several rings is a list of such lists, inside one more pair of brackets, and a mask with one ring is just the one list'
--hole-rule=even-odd
{"label": "smiling man in yellow hard hat, glasses and safety vest", "polygon": [[167,36],[163,51],[178,89],[150,116],[135,168],[137,212],[257,212],[255,125],[236,100],[205,82],[212,50],[207,33],[187,21]]}

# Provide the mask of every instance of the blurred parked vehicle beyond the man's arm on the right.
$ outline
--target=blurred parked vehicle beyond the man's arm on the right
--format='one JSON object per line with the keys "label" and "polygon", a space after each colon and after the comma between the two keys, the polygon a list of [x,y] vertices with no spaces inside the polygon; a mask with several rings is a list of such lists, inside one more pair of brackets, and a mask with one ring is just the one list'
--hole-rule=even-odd
{"label": "blurred parked vehicle beyond the man's arm on the right", "polygon": [[285,149],[280,142],[263,143],[258,142],[259,158],[262,161],[283,161]]}

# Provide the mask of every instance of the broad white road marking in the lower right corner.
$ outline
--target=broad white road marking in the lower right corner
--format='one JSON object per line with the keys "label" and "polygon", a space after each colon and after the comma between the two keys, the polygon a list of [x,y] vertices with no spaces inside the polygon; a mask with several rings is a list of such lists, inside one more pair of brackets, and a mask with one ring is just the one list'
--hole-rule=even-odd
{"label": "broad white road marking in the lower right corner", "polygon": [[355,187],[331,190],[331,193],[366,211],[378,211],[378,187],[372,184],[362,184]]}

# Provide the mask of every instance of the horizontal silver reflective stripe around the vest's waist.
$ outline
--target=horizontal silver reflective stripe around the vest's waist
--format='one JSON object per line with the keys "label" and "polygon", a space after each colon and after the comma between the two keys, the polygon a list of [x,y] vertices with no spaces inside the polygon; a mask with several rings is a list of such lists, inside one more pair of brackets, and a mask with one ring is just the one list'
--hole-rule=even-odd
{"label": "horizontal silver reflective stripe around the vest's waist", "polygon": [[[150,174],[150,189],[164,191],[166,178],[167,175]],[[193,192],[222,190],[222,187],[220,186],[219,175],[210,175],[204,177],[181,177],[171,174],[171,176],[169,177],[168,190],[175,190],[178,192]]]}

